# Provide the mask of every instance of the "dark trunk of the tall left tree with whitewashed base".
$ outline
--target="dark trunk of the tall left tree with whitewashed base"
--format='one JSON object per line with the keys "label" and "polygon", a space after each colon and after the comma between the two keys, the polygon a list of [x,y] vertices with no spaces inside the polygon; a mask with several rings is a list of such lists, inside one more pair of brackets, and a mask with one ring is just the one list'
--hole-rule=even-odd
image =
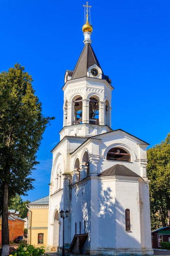
{"label": "dark trunk of the tall left tree with whitewashed base", "polygon": [[4,197],[2,208],[2,256],[9,256],[9,226],[8,226],[8,184],[4,182]]}

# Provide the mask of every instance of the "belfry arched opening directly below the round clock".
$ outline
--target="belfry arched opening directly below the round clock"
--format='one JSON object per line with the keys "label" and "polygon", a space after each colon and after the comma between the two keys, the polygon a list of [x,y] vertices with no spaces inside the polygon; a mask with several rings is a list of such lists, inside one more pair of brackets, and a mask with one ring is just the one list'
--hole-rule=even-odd
{"label": "belfry arched opening directly below the round clock", "polygon": [[99,124],[99,101],[91,97],[89,102],[89,124]]}

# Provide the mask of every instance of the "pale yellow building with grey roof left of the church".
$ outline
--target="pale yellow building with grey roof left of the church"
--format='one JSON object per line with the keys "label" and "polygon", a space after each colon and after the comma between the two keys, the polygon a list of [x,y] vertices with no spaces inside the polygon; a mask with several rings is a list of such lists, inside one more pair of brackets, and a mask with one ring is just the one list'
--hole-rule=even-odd
{"label": "pale yellow building with grey roof left of the church", "polygon": [[46,247],[49,218],[49,196],[35,200],[27,205],[29,209],[28,244]]}

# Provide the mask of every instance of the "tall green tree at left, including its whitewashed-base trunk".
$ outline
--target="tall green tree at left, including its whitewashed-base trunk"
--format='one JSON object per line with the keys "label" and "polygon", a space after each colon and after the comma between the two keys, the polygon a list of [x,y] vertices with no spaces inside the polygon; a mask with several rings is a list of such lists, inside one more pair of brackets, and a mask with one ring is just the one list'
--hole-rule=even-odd
{"label": "tall green tree at left, including its whitewashed-base trunk", "polygon": [[42,134],[53,117],[44,117],[32,77],[16,63],[0,73],[0,200],[2,255],[9,255],[9,200],[33,189],[30,177]]}

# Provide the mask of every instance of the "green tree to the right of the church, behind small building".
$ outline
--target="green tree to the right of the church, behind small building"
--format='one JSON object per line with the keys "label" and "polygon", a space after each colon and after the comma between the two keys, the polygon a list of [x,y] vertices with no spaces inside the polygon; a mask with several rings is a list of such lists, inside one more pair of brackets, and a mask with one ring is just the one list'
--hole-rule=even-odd
{"label": "green tree to the right of the church, behind small building", "polygon": [[170,210],[170,133],[147,151],[152,230],[166,226]]}

